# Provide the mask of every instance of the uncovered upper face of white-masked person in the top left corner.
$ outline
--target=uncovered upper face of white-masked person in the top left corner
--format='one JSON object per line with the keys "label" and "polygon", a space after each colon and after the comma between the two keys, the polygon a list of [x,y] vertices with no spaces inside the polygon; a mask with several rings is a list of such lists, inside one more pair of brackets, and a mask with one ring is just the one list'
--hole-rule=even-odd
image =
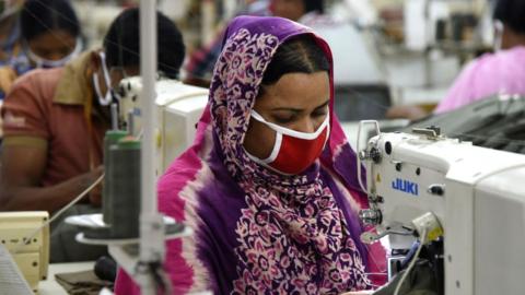
{"label": "uncovered upper face of white-masked person in the top left corner", "polygon": [[27,44],[36,56],[47,60],[60,60],[74,50],[77,37],[63,30],[54,30],[34,37]]}

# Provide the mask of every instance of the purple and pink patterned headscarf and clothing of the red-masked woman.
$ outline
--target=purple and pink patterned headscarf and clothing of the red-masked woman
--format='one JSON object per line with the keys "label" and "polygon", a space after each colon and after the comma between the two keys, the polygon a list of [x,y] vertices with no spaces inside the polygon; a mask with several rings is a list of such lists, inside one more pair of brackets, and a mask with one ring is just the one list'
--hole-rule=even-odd
{"label": "purple and pink patterned headscarf and clothing of the red-masked woman", "polygon": [[[167,243],[177,294],[339,294],[370,288],[366,272],[383,270],[384,259],[369,259],[372,251],[384,257],[382,249],[359,239],[357,212],[366,198],[332,110],[331,72],[330,138],[305,173],[273,173],[243,148],[265,69],[282,43],[302,34],[315,37],[331,64],[328,45],[285,19],[240,16],[226,30],[196,141],[159,184],[160,210],[195,229]],[[136,292],[120,272],[116,293]]]}

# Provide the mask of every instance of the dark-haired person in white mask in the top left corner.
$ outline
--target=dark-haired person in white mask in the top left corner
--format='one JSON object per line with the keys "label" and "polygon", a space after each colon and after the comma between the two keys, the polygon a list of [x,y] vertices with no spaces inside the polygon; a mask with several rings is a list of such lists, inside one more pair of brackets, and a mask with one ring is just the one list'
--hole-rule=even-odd
{"label": "dark-haired person in white mask in the top left corner", "polygon": [[79,20],[68,0],[27,0],[20,24],[26,59],[0,69],[0,98],[18,76],[35,68],[62,67],[82,50]]}

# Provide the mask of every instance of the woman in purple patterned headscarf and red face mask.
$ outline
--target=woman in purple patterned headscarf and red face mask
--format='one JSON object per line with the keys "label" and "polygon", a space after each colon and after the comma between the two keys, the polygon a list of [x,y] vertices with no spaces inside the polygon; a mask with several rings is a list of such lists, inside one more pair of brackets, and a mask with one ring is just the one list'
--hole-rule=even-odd
{"label": "woman in purple patterned headscarf and red face mask", "polygon": [[[366,198],[334,115],[331,54],[280,17],[236,17],[194,145],[159,184],[159,208],[195,229],[167,243],[173,293],[339,294],[382,261],[360,243]],[[382,261],[383,262],[383,261]],[[120,272],[116,294],[139,294]]]}

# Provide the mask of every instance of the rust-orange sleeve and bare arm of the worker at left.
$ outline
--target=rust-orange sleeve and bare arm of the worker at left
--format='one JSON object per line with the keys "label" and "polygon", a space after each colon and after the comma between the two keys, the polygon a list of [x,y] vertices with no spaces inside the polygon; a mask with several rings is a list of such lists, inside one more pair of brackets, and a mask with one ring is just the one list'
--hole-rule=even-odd
{"label": "rust-orange sleeve and bare arm of the worker at left", "polygon": [[[0,170],[0,211],[62,208],[102,173],[102,168],[51,187],[42,187],[51,140],[48,122],[52,97],[44,92],[45,72],[21,76],[3,101],[3,142]],[[67,123],[67,122],[66,122]]]}

